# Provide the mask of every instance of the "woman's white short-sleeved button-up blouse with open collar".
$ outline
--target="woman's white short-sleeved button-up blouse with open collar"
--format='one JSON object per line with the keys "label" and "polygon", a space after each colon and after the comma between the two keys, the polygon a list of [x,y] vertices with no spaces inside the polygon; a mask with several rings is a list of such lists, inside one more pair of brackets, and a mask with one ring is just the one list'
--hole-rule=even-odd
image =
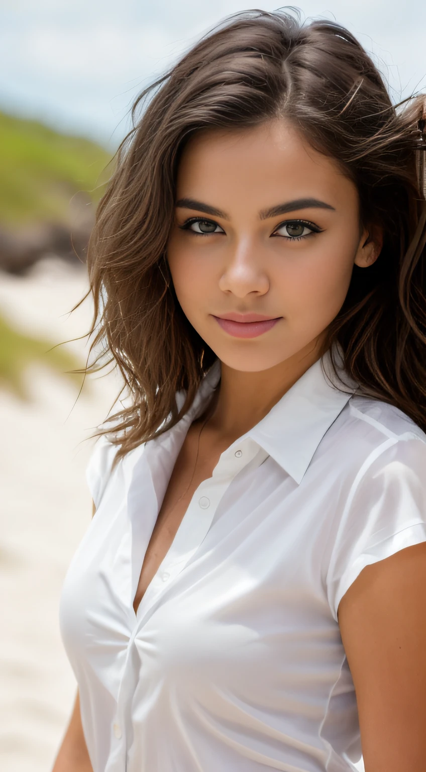
{"label": "woman's white short-sleeved button-up blouse with open collar", "polygon": [[114,446],[95,445],[96,514],[59,611],[93,770],[354,770],[337,608],[364,566],[426,540],[426,435],[317,361],[198,486],[135,615],[174,462],[219,378],[217,361],[188,414],[112,473]]}

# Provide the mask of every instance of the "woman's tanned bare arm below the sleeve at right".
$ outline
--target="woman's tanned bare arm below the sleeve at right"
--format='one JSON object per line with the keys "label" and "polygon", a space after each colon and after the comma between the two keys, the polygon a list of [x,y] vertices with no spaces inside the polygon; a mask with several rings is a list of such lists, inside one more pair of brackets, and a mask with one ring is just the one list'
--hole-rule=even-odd
{"label": "woman's tanned bare arm below the sleeve at right", "polygon": [[338,621],[357,694],[365,772],[426,758],[426,543],[363,568]]}

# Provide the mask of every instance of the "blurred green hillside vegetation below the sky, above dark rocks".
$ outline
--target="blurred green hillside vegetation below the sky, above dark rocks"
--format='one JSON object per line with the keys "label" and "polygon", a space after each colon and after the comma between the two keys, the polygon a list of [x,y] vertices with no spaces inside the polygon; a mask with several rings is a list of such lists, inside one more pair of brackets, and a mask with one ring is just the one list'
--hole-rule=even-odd
{"label": "blurred green hillside vegetation below the sky, above dark rocks", "polygon": [[110,159],[94,142],[0,113],[0,223],[67,224],[73,195],[99,200]]}

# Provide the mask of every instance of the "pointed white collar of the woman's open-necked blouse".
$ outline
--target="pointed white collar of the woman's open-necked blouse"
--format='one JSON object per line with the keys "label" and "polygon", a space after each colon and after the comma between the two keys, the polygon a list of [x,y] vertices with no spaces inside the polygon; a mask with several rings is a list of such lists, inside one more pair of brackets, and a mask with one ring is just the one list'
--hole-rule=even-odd
{"label": "pointed white collar of the woman's open-necked blouse", "polygon": [[[333,360],[337,378],[329,349],[244,435],[255,440],[298,485],[326,431],[359,387],[344,370],[339,344],[333,346]],[[217,360],[201,382],[190,415],[187,414],[190,422],[203,411],[220,375],[221,364]]]}

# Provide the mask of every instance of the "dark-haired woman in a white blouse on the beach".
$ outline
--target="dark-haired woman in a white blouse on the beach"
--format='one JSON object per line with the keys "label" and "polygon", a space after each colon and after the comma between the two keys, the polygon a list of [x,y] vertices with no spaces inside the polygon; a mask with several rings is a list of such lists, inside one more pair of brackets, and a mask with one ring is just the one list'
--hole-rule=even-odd
{"label": "dark-haired woman in a white blouse on the beach", "polygon": [[90,242],[129,398],[63,587],[55,772],[420,770],[423,99],[283,12],[155,86]]}

